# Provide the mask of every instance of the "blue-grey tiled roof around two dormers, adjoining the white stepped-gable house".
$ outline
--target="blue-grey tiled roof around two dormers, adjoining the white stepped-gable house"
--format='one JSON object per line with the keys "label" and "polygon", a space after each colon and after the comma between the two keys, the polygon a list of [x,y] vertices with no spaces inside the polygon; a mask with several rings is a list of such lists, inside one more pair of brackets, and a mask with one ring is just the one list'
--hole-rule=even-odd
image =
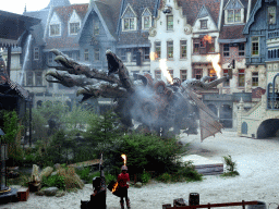
{"label": "blue-grey tiled roof around two dormers, adjoining the white stepped-gable house", "polygon": [[[122,23],[119,25],[119,42],[118,45],[149,45],[148,41],[148,30],[142,30],[142,14],[146,8],[150,11],[151,15],[157,0],[126,0],[123,5],[123,11],[125,11],[128,4],[133,8],[137,15],[137,28],[134,32],[122,32]],[[120,17],[123,15],[120,14]],[[121,21],[121,20],[120,20]]]}

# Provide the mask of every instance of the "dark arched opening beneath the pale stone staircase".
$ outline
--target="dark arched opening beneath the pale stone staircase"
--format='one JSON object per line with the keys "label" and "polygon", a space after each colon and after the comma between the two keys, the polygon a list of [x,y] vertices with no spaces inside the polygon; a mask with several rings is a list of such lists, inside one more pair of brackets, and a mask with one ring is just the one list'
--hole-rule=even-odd
{"label": "dark arched opening beneath the pale stone staircase", "polygon": [[279,119],[268,119],[260,123],[257,128],[257,138],[276,137],[279,131]]}

